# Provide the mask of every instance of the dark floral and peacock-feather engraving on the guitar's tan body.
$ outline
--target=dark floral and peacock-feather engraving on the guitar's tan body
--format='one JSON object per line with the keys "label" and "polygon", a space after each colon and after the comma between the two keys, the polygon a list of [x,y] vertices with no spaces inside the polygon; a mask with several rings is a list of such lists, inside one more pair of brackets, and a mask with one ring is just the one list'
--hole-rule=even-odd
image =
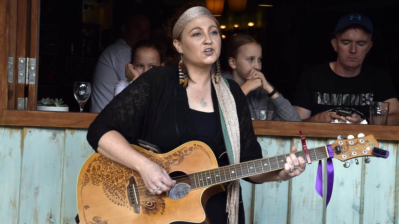
{"label": "dark floral and peacock-feather engraving on the guitar's tan body", "polygon": [[[169,172],[171,166],[181,164],[184,161],[185,156],[190,155],[193,150],[201,150],[202,148],[202,146],[195,144],[194,147],[183,147],[167,157],[161,158],[147,154],[146,151],[140,151],[140,153],[151,161],[158,163],[167,172]],[[205,150],[202,149],[201,151]],[[154,216],[158,213],[164,214],[165,200],[158,195],[151,195],[148,193],[147,188],[144,185],[144,181],[141,179],[141,176],[137,171],[128,169],[127,167],[122,166],[119,163],[115,163],[102,155],[96,157],[89,163],[89,166],[87,167],[83,176],[84,181],[82,183],[81,193],[83,191],[83,187],[85,187],[88,183],[92,183],[96,186],[101,185],[105,196],[107,196],[109,200],[114,202],[116,205],[123,206],[131,210],[132,208],[129,206],[126,192],[126,185],[128,185],[131,176],[135,177],[136,179],[142,212],[148,216]],[[97,223],[95,222],[95,224]]]}

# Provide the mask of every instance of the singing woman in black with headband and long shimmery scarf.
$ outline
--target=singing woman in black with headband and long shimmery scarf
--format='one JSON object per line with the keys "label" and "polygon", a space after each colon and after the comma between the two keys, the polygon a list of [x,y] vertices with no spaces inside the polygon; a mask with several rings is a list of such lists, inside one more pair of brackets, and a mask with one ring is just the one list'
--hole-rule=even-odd
{"label": "singing woman in black with headband and long shimmery scarf", "polygon": [[[175,181],[160,165],[130,146],[137,139],[157,145],[163,153],[187,141],[202,141],[212,149],[219,166],[229,165],[227,147],[234,163],[262,157],[245,95],[235,81],[220,76],[221,36],[216,18],[206,8],[196,6],[180,12],[175,20],[172,36],[181,55],[180,66],[155,67],[140,75],[101,111],[87,133],[93,149],[138,171],[148,192],[156,195],[170,190]],[[225,134],[222,126],[227,128]],[[229,140],[226,144],[225,139]],[[304,159],[292,153],[284,169],[245,180],[285,181],[304,169]],[[239,181],[233,181],[227,192],[207,200],[211,223],[244,223],[239,192]]]}

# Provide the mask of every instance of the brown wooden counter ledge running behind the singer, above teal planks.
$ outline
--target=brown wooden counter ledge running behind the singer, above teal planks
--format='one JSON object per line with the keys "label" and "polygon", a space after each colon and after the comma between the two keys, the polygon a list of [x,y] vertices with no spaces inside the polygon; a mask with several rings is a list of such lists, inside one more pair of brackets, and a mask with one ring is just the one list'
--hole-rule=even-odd
{"label": "brown wooden counter ledge running behind the singer, above teal planks", "polygon": [[[44,112],[32,110],[3,110],[0,125],[88,128],[96,113]],[[379,140],[399,140],[399,126],[365,124],[329,124],[285,121],[253,121],[257,135],[298,136],[301,129],[306,137],[336,138],[358,133],[373,134]]]}

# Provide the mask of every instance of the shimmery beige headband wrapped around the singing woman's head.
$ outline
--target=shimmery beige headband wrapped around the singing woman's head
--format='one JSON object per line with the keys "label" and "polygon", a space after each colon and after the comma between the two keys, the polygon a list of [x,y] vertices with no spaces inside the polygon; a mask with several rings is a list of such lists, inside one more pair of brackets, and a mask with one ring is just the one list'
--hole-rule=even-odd
{"label": "shimmery beige headband wrapped around the singing woman's head", "polygon": [[217,22],[217,19],[212,15],[212,13],[207,8],[202,6],[195,6],[186,10],[186,12],[184,12],[179,17],[179,19],[177,20],[176,24],[173,27],[173,32],[172,32],[173,39],[178,39],[184,27],[191,20],[194,20],[195,18],[198,17],[207,17],[209,19],[212,19],[213,21],[215,21],[217,28],[219,28],[219,22]]}

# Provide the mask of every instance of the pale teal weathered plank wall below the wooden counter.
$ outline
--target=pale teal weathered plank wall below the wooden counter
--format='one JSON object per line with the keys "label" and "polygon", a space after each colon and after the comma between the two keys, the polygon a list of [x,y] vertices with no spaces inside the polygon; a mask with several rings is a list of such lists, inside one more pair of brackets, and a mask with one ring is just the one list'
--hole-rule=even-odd
{"label": "pale teal weathered plank wall below the wooden counter", "polygon": [[[77,176],[93,153],[86,133],[86,129],[0,126],[2,223],[75,223]],[[258,141],[264,157],[300,145],[298,138],[290,137],[259,136]],[[306,141],[308,147],[317,147],[334,139]],[[372,157],[369,164],[359,159],[359,165],[350,160],[349,168],[333,160],[334,191],[327,208],[314,190],[317,163],[281,184],[241,181],[247,223],[399,223],[398,141],[379,143],[389,150],[388,159]]]}

